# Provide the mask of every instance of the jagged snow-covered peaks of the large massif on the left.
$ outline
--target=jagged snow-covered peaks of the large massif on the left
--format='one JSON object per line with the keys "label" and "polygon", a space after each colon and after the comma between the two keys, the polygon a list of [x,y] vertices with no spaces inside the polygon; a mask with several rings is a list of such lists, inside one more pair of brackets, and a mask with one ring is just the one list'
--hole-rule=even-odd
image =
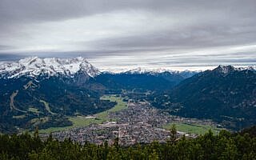
{"label": "jagged snow-covered peaks of the large massif on the left", "polygon": [[18,78],[22,75],[37,77],[38,75],[72,76],[78,71],[95,77],[99,74],[98,69],[92,66],[85,58],[23,58],[18,62],[2,62],[0,77]]}

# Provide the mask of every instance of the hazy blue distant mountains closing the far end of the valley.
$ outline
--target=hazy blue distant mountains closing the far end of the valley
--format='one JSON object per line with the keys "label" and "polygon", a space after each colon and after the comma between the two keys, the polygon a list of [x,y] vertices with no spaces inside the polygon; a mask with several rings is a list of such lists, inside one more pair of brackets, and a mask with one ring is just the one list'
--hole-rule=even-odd
{"label": "hazy blue distant mountains closing the far end of the valley", "polygon": [[141,68],[114,74],[103,72],[96,81],[110,90],[170,90],[197,71],[142,70]]}

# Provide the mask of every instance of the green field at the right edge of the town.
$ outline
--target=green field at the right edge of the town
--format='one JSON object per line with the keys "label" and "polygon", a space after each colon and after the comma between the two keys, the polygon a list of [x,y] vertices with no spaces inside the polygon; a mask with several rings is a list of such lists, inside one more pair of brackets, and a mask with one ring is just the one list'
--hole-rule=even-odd
{"label": "green field at the right edge of the town", "polygon": [[[218,134],[221,129],[218,129],[214,126],[203,126],[198,124],[187,124],[187,123],[174,123],[178,131],[186,132],[188,134],[206,134],[211,130],[214,134]],[[173,123],[162,126],[165,129],[170,129]]]}

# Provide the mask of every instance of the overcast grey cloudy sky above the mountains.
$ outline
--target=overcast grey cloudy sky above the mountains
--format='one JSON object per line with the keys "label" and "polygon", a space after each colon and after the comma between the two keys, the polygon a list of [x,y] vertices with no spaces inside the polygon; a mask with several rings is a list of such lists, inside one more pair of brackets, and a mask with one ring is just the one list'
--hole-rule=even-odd
{"label": "overcast grey cloudy sky above the mountains", "polygon": [[1,0],[0,61],[82,56],[102,70],[256,65],[255,0]]}

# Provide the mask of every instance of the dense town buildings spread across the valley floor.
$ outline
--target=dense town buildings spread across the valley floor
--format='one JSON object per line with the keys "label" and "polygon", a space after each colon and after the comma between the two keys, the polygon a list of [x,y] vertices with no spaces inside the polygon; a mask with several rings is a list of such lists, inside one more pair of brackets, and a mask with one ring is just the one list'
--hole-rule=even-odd
{"label": "dense town buildings spread across the valley floor", "polygon": [[[110,145],[114,143],[115,138],[118,138],[120,145],[130,146],[153,141],[166,142],[170,138],[170,130],[162,129],[163,124],[176,121],[193,121],[170,116],[152,108],[148,102],[128,102],[128,109],[110,113],[109,119],[115,119],[115,121],[54,132],[52,136],[60,141],[71,138],[74,142],[82,144],[85,142],[95,144],[108,142]],[[194,138],[196,136],[183,132],[177,132],[177,134],[179,137],[186,135]],[[41,136],[46,137],[48,135],[42,134]]]}

